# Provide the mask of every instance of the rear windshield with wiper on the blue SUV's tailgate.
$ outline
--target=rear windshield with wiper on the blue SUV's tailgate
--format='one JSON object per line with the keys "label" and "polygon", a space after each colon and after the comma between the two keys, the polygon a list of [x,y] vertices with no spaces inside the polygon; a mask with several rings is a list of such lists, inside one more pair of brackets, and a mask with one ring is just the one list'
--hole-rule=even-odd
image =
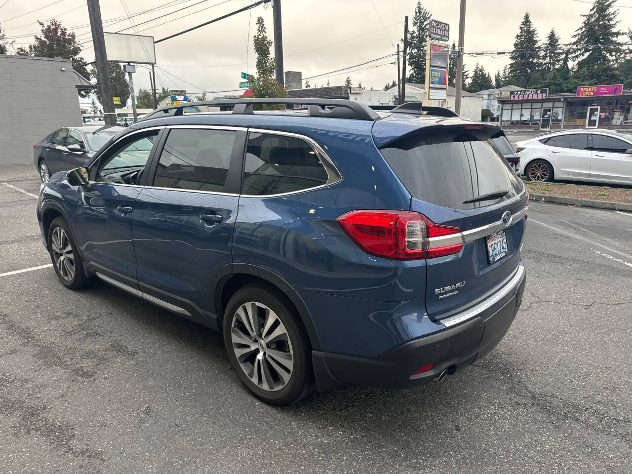
{"label": "rear windshield with wiper on the blue SUV's tailgate", "polygon": [[406,138],[381,151],[411,195],[425,202],[472,209],[491,204],[465,202],[481,195],[507,191],[506,200],[520,194],[523,186],[492,140],[467,132]]}

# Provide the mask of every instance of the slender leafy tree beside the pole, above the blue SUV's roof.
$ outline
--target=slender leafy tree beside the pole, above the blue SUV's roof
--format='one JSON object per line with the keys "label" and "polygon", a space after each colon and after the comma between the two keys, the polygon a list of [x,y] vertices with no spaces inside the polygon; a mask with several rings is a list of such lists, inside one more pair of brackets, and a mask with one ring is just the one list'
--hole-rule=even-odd
{"label": "slender leafy tree beside the pole, above the blue SUV's roof", "polygon": [[[274,78],[274,58],[270,56],[272,40],[267,37],[264,18],[257,18],[257,34],[253,37],[253,46],[257,54],[257,78],[248,76],[252,84],[250,90],[254,97],[288,97],[288,91]],[[258,110],[284,109],[283,104],[262,104],[255,106]]]}

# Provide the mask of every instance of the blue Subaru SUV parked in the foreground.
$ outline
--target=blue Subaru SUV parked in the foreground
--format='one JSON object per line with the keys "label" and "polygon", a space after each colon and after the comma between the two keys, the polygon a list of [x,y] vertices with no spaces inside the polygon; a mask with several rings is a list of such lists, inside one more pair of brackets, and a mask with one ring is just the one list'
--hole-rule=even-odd
{"label": "blue Subaru SUV parked in the foreground", "polygon": [[163,107],[54,174],[37,219],[59,281],[97,277],[221,331],[273,404],[416,386],[488,353],[526,279],[528,195],[501,129],[418,104],[253,111],[294,102]]}

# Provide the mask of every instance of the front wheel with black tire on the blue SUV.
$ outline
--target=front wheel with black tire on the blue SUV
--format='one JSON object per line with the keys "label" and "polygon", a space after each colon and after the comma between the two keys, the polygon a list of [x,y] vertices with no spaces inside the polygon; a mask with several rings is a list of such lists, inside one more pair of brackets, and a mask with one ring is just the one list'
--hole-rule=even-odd
{"label": "front wheel with black tire on the blue SUV", "polygon": [[76,250],[73,235],[61,217],[53,219],[48,229],[48,248],[52,267],[64,286],[79,289],[90,284],[83,272],[83,260]]}

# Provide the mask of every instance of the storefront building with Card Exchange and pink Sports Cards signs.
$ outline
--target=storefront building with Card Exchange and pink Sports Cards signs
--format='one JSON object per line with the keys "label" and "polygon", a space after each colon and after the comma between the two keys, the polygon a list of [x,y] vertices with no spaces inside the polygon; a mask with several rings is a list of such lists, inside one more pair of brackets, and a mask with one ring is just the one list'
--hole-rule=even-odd
{"label": "storefront building with Card Exchange and pink Sports Cards signs", "polygon": [[497,100],[501,126],[509,130],[632,129],[632,90],[623,84],[580,86],[569,94],[516,90]]}

